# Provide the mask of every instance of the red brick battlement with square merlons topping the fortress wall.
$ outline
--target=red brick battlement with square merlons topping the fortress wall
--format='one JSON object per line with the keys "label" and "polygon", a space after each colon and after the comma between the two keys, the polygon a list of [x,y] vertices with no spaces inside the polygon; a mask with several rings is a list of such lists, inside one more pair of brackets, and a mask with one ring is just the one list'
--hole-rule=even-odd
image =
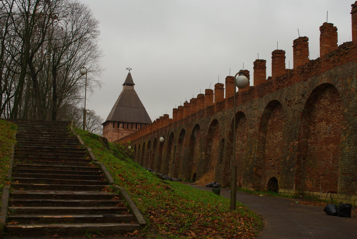
{"label": "red brick battlement with square merlons topping the fortress wall", "polygon": [[[357,3],[357,1],[356,1]],[[357,4],[352,4],[352,36],[357,36]],[[356,54],[351,52],[355,48],[354,41],[357,37],[352,37],[351,42],[343,43],[337,46],[337,27],[332,23],[323,23],[320,26],[320,57],[315,60],[309,60],[308,37],[301,36],[293,40],[293,69],[286,69],[285,66],[285,50],[272,51],[272,72],[271,77],[266,78],[266,60],[256,59],[253,63],[253,86],[247,86],[245,89],[237,89],[237,102],[246,102],[251,98],[261,97],[262,95],[271,93],[275,89],[286,87],[297,83],[303,79],[310,78],[314,75],[319,75],[323,71],[335,68],[338,65],[345,64],[348,61],[356,59]],[[243,70],[250,74],[250,71]],[[262,86],[260,86],[262,85]],[[250,95],[242,93],[249,91]],[[121,139],[122,142],[132,141],[146,134],[153,133],[162,127],[166,127],[169,122],[175,123],[184,118],[192,117],[197,111],[201,111],[200,115],[212,115],[218,111],[232,107],[233,99],[229,99],[234,94],[234,77],[227,76],[225,85],[216,83],[214,93],[211,89],[206,89],[205,94],[198,94],[197,98],[190,99],[190,102],[185,101],[183,106],[172,109],[172,119],[168,116],[160,117],[153,123],[144,126],[142,129],[134,132],[131,135]],[[221,103],[224,101],[225,103]],[[220,103],[220,104],[218,104]],[[208,106],[215,105],[214,111]],[[140,135],[140,136],[139,136]],[[139,136],[139,137],[138,137]]]}

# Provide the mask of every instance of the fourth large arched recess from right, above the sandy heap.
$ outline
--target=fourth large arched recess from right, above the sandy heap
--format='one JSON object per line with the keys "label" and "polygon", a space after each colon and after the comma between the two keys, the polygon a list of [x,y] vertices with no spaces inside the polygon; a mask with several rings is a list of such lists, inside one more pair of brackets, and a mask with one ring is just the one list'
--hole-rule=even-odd
{"label": "fourth large arched recess from right, above the sandy heap", "polygon": [[220,139],[220,125],[218,120],[213,120],[208,128],[206,139],[205,159],[202,165],[202,175],[215,171],[217,165],[218,145]]}

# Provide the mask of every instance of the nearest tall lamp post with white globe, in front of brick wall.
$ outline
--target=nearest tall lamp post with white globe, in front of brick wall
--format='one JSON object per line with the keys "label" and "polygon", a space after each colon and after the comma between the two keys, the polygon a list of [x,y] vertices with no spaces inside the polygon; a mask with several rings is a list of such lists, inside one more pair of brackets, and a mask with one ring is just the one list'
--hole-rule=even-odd
{"label": "nearest tall lamp post with white globe, in front of brick wall", "polygon": [[239,89],[249,85],[248,75],[244,71],[239,71],[235,76],[234,86],[234,107],[233,107],[233,166],[231,168],[231,210],[236,210],[237,201],[237,166],[236,166],[236,86]]}

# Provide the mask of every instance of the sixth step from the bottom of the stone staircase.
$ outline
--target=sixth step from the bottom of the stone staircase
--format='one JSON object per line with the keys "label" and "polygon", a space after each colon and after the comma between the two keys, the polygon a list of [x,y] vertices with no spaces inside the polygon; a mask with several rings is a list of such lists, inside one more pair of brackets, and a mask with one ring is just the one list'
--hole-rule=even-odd
{"label": "sixth step from the bottom of the stone staircase", "polygon": [[12,188],[17,190],[69,190],[69,191],[100,191],[107,185],[74,185],[74,184],[31,184],[15,183]]}

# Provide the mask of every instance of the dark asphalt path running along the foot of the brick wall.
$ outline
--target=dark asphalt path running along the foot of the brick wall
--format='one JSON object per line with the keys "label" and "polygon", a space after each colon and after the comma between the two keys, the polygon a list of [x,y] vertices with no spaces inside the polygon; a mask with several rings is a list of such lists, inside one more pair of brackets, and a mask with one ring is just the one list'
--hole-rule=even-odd
{"label": "dark asphalt path running along the foot of the brick wall", "polygon": [[[212,191],[212,188],[191,186]],[[228,189],[221,189],[221,196],[230,198]],[[305,205],[295,203],[299,201],[296,199],[239,191],[237,201],[263,216],[265,225],[257,239],[357,239],[357,218],[353,215],[352,218],[329,216],[323,211],[325,206]]]}

